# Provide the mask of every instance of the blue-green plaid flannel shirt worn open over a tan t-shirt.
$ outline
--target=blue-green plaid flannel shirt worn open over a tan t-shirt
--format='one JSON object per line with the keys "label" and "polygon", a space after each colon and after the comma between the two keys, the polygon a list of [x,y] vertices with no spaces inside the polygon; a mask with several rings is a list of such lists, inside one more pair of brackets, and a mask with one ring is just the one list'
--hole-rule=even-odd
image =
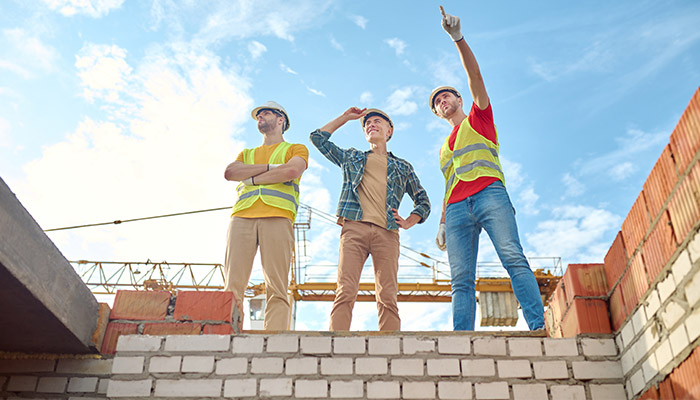
{"label": "blue-green plaid flannel shirt worn open over a tan t-shirt", "polygon": [[[311,143],[330,162],[339,166],[343,170],[343,187],[338,200],[338,210],[336,214],[345,219],[360,221],[362,219],[362,205],[357,188],[360,186],[362,176],[365,173],[367,154],[369,151],[360,151],[355,148],[341,149],[329,139],[331,134],[317,129],[311,132]],[[420,184],[413,166],[401,158],[394,156],[391,152],[387,155],[386,167],[386,221],[387,229],[399,229],[392,208],[398,210],[401,198],[405,193],[413,199],[413,211],[420,217],[419,224],[425,221],[430,214],[430,200],[428,194]]]}

